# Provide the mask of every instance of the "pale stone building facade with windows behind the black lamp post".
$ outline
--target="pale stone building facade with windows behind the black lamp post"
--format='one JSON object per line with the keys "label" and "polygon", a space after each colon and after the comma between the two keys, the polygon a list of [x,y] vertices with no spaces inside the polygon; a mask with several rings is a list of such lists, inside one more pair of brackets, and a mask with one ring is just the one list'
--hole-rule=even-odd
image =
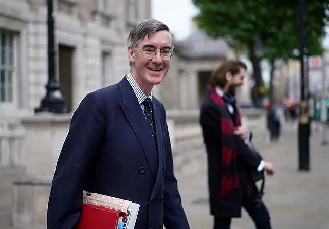
{"label": "pale stone building facade with windows behind the black lamp post", "polygon": [[[54,1],[57,77],[74,110],[89,91],[118,82],[129,69],[126,37],[151,17],[150,0]],[[0,1],[0,112],[33,113],[48,80],[47,1]]]}

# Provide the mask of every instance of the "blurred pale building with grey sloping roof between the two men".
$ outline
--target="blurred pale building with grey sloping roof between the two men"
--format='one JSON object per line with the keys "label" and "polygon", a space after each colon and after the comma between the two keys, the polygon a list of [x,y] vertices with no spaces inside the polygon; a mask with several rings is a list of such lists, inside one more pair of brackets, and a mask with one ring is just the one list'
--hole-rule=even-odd
{"label": "blurred pale building with grey sloping roof between the two men", "polygon": [[231,58],[233,51],[223,39],[211,39],[195,29],[187,39],[175,42],[168,76],[158,92],[160,100],[168,109],[198,110],[212,72]]}

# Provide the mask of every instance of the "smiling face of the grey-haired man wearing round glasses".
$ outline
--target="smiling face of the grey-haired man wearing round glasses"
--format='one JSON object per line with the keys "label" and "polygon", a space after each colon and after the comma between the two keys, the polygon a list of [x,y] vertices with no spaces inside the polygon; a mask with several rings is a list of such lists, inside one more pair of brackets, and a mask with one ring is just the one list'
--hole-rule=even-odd
{"label": "smiling face of the grey-haired man wearing round glasses", "polygon": [[[132,62],[131,70],[144,92],[149,92],[153,85],[161,83],[166,77],[170,60],[164,61],[160,52],[171,50],[171,43],[170,33],[163,30],[154,33],[150,38],[145,36],[138,43],[138,47],[129,47],[129,60]],[[156,54],[154,54],[155,52]]]}

